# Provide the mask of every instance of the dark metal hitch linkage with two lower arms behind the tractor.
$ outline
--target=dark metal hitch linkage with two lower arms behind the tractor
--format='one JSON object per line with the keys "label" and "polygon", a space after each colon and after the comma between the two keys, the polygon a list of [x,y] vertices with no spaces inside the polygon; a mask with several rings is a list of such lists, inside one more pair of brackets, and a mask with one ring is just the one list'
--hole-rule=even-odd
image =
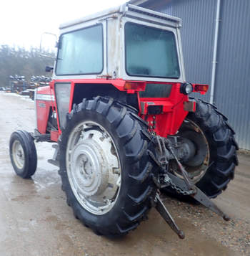
{"label": "dark metal hitch linkage with two lower arms behind the tractor", "polygon": [[[154,157],[154,161],[157,162],[158,166],[160,166],[162,170],[162,173],[159,174],[159,177],[153,178],[156,186],[158,186],[159,189],[162,189],[166,186],[171,186],[171,188],[179,194],[192,196],[205,207],[208,207],[212,212],[215,212],[219,216],[223,217],[225,221],[229,221],[229,216],[222,212],[221,209],[219,209],[219,207],[217,207],[216,204],[214,204],[214,202],[212,202],[211,199],[209,199],[209,197],[204,194],[204,192],[195,186],[194,182],[189,178],[188,172],[179,161],[178,155],[176,153],[176,139],[173,142],[172,140],[156,136],[154,141],[159,151],[158,156]],[[166,168],[170,159],[176,162],[181,173],[181,177],[172,174],[169,168]],[[184,232],[181,231],[176,222],[174,222],[173,217],[171,217],[171,214],[166,209],[164,203],[161,201],[159,192],[156,193],[155,207],[159,214],[161,214],[161,217],[163,217],[166,223],[169,224],[171,229],[173,229],[174,232],[178,234],[179,238],[184,239]]]}

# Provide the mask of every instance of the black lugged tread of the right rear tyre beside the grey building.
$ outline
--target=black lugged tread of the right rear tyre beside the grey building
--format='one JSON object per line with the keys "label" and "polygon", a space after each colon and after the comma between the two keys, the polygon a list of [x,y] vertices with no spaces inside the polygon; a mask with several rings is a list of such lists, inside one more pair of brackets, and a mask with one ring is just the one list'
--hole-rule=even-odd
{"label": "black lugged tread of the right rear tyre beside the grey building", "polygon": [[234,139],[234,130],[227,123],[226,116],[220,113],[216,106],[204,100],[198,100],[197,105],[196,112],[189,114],[188,118],[198,120],[197,123],[204,130],[212,147],[210,151],[213,153],[214,164],[210,166],[204,179],[196,185],[209,197],[215,198],[226,189],[231,179],[234,179],[234,169],[238,165],[238,147]]}

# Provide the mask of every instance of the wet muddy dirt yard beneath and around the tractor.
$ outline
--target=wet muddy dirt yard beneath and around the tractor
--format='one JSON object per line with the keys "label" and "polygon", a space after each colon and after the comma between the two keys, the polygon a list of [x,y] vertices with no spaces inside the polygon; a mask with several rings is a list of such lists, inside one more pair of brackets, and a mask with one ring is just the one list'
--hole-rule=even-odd
{"label": "wet muddy dirt yard beneath and around the tractor", "polygon": [[155,209],[126,237],[110,240],[84,227],[66,204],[57,168],[47,163],[50,143],[36,143],[38,168],[32,179],[14,174],[9,136],[34,131],[34,102],[0,93],[0,255],[250,255],[250,156],[239,154],[234,181],[216,203],[231,217],[224,222],[201,205],[164,198],[186,234],[179,240]]}

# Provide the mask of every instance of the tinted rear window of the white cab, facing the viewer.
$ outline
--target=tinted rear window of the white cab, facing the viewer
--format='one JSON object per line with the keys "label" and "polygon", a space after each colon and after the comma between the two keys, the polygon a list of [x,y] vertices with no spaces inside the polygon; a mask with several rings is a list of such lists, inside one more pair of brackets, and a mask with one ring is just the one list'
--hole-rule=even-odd
{"label": "tinted rear window of the white cab, facing the viewer", "polygon": [[131,76],[179,78],[173,32],[141,24],[125,24],[126,73]]}

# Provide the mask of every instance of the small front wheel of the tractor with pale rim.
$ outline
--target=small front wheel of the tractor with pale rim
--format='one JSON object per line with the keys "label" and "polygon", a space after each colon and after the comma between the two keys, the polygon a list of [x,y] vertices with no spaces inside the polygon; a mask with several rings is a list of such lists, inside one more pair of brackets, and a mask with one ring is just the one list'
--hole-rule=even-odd
{"label": "small front wheel of the tractor with pale rim", "polygon": [[15,131],[9,141],[9,155],[18,176],[29,179],[36,171],[37,156],[34,140],[26,131]]}

